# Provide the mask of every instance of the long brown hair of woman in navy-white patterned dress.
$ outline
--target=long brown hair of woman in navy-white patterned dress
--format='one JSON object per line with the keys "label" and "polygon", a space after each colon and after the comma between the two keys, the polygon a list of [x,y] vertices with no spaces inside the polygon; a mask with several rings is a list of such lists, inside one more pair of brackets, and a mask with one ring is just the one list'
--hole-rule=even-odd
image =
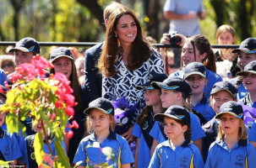
{"label": "long brown hair of woman in navy-white patterned dress", "polygon": [[119,42],[115,31],[117,30],[118,20],[123,15],[131,15],[137,25],[137,35],[133,41],[129,53],[128,70],[133,71],[139,68],[146,60],[149,60],[150,58],[150,45],[147,40],[144,39],[138,18],[136,18],[135,14],[128,8],[117,8],[112,12],[110,18],[108,19],[105,39],[106,43],[98,61],[98,68],[104,76],[110,77],[117,73],[114,65],[118,59],[117,55],[121,55],[122,50],[121,47],[118,46]]}

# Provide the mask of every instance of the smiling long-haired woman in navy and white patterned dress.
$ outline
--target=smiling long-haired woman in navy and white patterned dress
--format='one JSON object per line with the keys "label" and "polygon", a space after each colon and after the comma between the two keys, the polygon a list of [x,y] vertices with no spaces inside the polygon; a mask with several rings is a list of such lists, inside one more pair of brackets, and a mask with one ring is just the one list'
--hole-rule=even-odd
{"label": "smiling long-haired woman in navy and white patterned dress", "polygon": [[163,62],[144,39],[138,18],[128,8],[117,8],[110,15],[98,67],[103,75],[102,97],[111,101],[125,97],[134,108],[118,120],[116,128],[130,142],[133,123],[145,107],[143,91],[135,86],[144,85],[154,73],[163,73]]}

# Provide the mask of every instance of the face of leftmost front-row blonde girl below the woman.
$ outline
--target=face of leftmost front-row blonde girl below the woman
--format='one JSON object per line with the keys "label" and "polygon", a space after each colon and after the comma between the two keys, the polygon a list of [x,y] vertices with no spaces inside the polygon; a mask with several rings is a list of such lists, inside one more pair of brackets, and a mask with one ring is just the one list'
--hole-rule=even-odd
{"label": "face of leftmost front-row blonde girl below the woman", "polygon": [[106,133],[109,131],[112,123],[106,113],[102,113],[98,109],[92,109],[89,114],[90,125],[95,130],[96,134]]}

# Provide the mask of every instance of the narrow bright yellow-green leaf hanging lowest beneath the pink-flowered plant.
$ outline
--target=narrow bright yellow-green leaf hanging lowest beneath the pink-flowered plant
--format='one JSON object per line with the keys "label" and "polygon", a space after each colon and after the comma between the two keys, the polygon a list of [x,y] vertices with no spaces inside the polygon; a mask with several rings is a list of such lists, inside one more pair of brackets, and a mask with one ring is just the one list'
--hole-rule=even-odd
{"label": "narrow bright yellow-green leaf hanging lowest beneath the pink-flowered plant", "polygon": [[37,165],[41,165],[43,155],[45,154],[43,150],[43,139],[42,139],[42,134],[37,133],[35,134],[35,140],[34,140],[34,149],[35,149],[35,160]]}

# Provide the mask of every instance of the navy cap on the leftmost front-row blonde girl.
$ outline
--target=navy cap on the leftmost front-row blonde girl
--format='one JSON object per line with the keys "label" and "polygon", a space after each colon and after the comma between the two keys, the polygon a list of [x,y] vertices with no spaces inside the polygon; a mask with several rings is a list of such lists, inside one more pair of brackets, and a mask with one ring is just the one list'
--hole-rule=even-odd
{"label": "navy cap on the leftmost front-row blonde girl", "polygon": [[102,113],[115,115],[115,108],[113,107],[112,102],[103,97],[99,97],[94,101],[90,102],[89,108],[86,108],[84,110],[84,113],[89,115],[90,110],[92,109],[98,109]]}

